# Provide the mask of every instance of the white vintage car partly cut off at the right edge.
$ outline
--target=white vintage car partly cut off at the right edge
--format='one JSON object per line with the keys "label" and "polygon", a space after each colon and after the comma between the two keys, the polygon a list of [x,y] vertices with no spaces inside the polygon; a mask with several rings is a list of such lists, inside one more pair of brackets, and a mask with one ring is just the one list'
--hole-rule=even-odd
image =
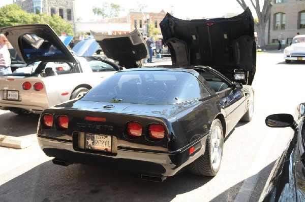
{"label": "white vintage car partly cut off at the right edge", "polygon": [[305,60],[305,34],[294,36],[291,45],[284,49],[284,59],[286,63]]}

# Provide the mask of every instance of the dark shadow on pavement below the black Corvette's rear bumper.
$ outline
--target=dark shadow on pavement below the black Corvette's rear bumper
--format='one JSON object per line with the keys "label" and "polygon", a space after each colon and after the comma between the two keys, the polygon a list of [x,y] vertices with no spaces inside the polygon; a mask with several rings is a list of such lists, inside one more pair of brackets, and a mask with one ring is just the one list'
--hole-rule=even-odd
{"label": "dark shadow on pavement below the black Corvette's rear bumper", "polygon": [[[51,160],[0,186],[0,201],[171,201],[212,178],[182,172],[162,183],[139,174]],[[204,196],[202,196],[204,198]]]}

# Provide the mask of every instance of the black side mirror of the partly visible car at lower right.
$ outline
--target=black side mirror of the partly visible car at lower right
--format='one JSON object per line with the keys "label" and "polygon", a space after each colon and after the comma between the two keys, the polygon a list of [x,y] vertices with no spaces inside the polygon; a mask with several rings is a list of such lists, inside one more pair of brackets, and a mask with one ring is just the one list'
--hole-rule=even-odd
{"label": "black side mirror of the partly visible car at lower right", "polygon": [[287,128],[296,129],[297,124],[291,114],[278,113],[268,115],[265,119],[266,126],[270,128]]}

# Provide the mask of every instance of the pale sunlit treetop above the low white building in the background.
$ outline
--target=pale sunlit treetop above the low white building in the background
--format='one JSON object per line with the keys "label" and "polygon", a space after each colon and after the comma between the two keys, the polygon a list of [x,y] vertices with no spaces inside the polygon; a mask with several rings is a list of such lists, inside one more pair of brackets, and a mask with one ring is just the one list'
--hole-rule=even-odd
{"label": "pale sunlit treetop above the low white building in the background", "polygon": [[121,11],[121,7],[117,4],[108,4],[107,2],[103,2],[102,8],[93,7],[92,12],[95,15],[100,15],[102,18],[114,18],[118,17],[119,12]]}

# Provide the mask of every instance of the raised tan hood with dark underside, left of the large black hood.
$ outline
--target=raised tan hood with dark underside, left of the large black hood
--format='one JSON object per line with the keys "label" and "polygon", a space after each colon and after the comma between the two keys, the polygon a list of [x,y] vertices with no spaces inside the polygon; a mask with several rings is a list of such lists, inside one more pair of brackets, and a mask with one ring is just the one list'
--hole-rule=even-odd
{"label": "raised tan hood with dark underside, left of the large black hood", "polygon": [[146,43],[135,29],[127,34],[108,35],[91,31],[104,54],[125,68],[143,66],[142,59],[148,56]]}

